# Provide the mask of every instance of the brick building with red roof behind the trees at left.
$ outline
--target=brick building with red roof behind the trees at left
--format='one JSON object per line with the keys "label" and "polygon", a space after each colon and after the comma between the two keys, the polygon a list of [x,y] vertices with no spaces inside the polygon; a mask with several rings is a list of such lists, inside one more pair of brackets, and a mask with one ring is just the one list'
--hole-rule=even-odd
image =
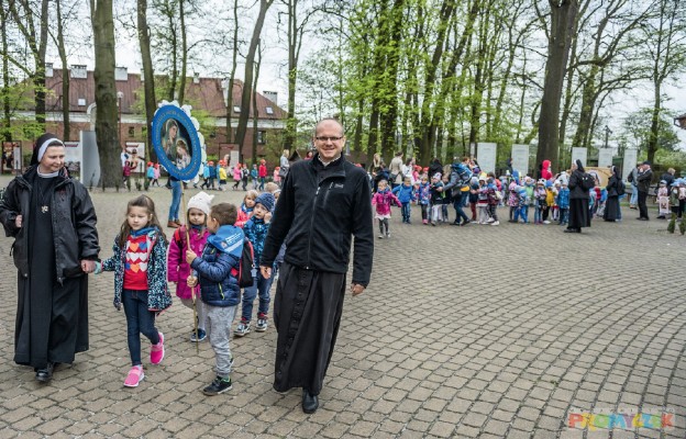
{"label": "brick building with red roof behind the trees at left", "polygon": [[[164,80],[164,78],[161,78]],[[64,124],[62,116],[62,69],[53,69],[46,65],[46,124],[47,128],[63,137]],[[86,66],[71,66],[69,69],[69,121],[70,138],[78,140],[80,131],[95,131],[96,94],[93,72]],[[232,144],[226,137],[226,95],[228,80],[220,78],[200,78],[195,76],[187,79],[185,103],[192,106],[191,114],[202,111],[207,114],[206,124],[201,128],[209,155],[242,155],[252,159],[254,136],[257,137],[257,156],[267,154],[267,143],[277,142],[286,127],[287,113],[276,104],[277,95],[273,92],[257,93],[257,131],[253,130],[253,103],[251,99],[250,119],[243,150]],[[115,70],[115,86],[120,106],[120,136],[122,143],[145,143],[146,123],[144,114],[144,91],[141,74],[130,74],[126,68]],[[241,93],[243,82],[234,80],[232,90],[233,108],[231,110],[232,136],[241,114]],[[158,101],[165,97],[157,95]],[[33,109],[26,109],[31,112]],[[193,114],[195,115],[195,114]],[[209,127],[208,127],[209,126]],[[278,150],[278,145],[272,145]],[[233,151],[233,154],[232,154]],[[237,155],[236,155],[237,154]]]}

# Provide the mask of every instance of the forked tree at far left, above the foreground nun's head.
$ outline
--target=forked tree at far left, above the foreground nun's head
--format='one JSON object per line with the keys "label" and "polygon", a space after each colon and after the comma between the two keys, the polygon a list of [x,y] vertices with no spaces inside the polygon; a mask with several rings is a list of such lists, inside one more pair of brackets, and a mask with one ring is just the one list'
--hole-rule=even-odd
{"label": "forked tree at far left, above the foreground nun's head", "polygon": [[[35,93],[35,120],[41,126],[45,126],[45,50],[47,48],[47,0],[41,0],[40,10],[36,12],[29,1],[8,0],[9,11],[14,19],[21,34],[26,40],[31,55],[33,56],[34,69],[31,71],[15,60],[13,64],[22,69],[31,78]],[[36,30],[36,22],[38,27]],[[4,23],[3,23],[4,26]],[[9,54],[5,54],[8,56]]]}

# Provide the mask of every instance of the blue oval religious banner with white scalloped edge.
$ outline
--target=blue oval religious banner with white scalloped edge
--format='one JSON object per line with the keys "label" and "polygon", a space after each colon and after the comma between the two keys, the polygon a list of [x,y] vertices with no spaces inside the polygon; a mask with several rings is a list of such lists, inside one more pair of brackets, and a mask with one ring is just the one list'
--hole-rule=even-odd
{"label": "blue oval religious banner with white scalloped edge", "polygon": [[178,180],[192,180],[202,159],[200,138],[190,116],[180,108],[168,104],[153,117],[153,148],[159,165]]}

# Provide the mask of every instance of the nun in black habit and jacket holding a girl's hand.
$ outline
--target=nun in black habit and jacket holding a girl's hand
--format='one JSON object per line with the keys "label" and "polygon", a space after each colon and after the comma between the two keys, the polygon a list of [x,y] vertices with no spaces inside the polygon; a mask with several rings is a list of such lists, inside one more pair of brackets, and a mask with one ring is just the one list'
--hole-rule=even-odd
{"label": "nun in black habit and jacket holding a girl's hand", "polygon": [[48,382],[55,364],[88,350],[87,273],[100,251],[90,195],[55,135],[38,137],[29,169],[8,184],[0,222],[18,269],[14,361]]}

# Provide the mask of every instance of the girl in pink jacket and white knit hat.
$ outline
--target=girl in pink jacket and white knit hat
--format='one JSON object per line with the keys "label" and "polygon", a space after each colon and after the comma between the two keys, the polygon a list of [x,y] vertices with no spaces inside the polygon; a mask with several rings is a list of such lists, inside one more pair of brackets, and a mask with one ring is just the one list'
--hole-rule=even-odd
{"label": "girl in pink jacket and white knit hat", "polygon": [[[172,241],[169,243],[169,252],[167,255],[167,280],[176,284],[176,295],[181,303],[192,309],[193,300],[198,312],[198,334],[195,329],[190,334],[190,341],[200,342],[207,337],[206,320],[207,311],[201,300],[199,300],[199,291],[192,291],[186,280],[190,274],[190,266],[186,263],[186,250],[188,243],[190,249],[196,254],[201,254],[207,238],[210,233],[207,229],[207,218],[210,215],[210,206],[214,195],[206,192],[199,192],[188,200],[188,211],[186,212],[186,224],[176,230]],[[195,294],[193,294],[195,293]]]}

